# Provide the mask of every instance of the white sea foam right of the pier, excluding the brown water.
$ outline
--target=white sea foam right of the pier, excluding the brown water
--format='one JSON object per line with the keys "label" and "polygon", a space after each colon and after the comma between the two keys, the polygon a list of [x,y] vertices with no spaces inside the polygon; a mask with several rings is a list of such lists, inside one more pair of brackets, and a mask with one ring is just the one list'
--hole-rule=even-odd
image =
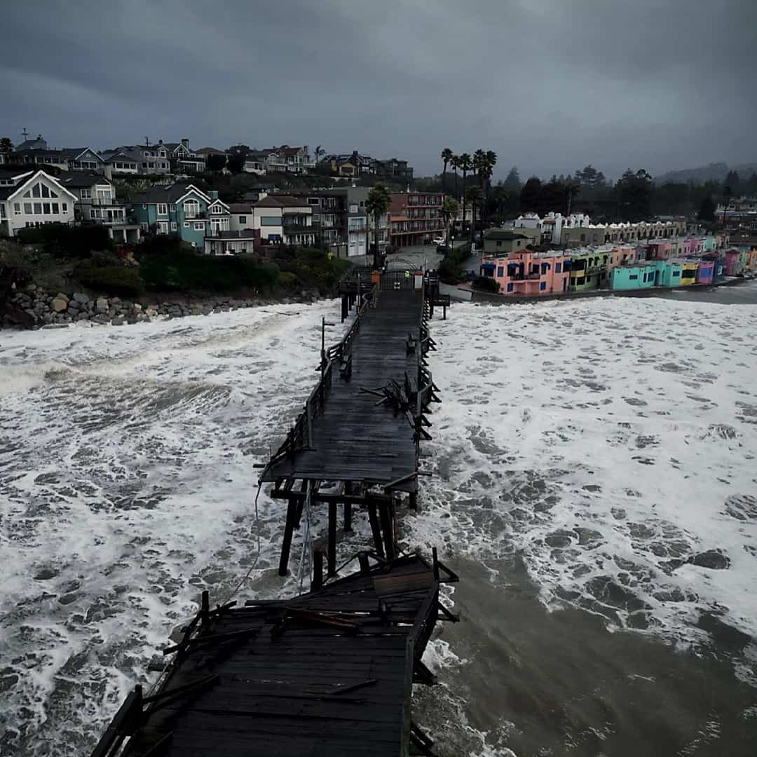
{"label": "white sea foam right of the pier, excluding the brown water", "polygon": [[[757,307],[637,299],[459,304],[411,540],[516,550],[565,601],[699,643],[757,634]],[[686,562],[721,550],[724,570]]]}

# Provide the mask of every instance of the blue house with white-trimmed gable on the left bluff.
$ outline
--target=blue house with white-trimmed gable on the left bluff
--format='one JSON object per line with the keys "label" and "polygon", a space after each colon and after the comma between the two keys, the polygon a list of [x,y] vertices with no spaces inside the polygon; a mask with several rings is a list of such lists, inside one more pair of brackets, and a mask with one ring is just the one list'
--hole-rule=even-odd
{"label": "blue house with white-trimmed gable on the left bluff", "polygon": [[156,234],[176,234],[198,250],[204,250],[206,236],[229,231],[229,206],[218,192],[201,192],[193,184],[154,186],[132,198],[130,217]]}

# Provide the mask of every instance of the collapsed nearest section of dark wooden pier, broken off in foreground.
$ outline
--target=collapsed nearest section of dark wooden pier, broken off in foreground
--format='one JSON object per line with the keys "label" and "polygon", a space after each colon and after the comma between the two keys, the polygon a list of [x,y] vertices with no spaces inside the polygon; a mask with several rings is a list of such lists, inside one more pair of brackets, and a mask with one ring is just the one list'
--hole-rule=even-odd
{"label": "collapsed nearest section of dark wooden pier, broken off in foreground", "polygon": [[[431,755],[413,721],[413,684],[438,620],[456,621],[436,559],[410,556],[291,600],[203,607],[185,628],[157,693],[136,687],[92,757]],[[233,605],[234,603],[230,603]]]}

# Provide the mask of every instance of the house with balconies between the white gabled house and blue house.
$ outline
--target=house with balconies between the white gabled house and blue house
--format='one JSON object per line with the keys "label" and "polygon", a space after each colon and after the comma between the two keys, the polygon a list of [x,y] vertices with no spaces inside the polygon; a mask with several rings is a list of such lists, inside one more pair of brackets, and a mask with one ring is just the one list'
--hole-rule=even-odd
{"label": "house with balconies between the white gabled house and blue house", "polygon": [[76,195],[76,223],[105,226],[108,236],[120,244],[136,245],[142,237],[138,223],[126,219],[126,205],[116,197],[107,176],[96,171],[70,171],[58,176],[61,186]]}

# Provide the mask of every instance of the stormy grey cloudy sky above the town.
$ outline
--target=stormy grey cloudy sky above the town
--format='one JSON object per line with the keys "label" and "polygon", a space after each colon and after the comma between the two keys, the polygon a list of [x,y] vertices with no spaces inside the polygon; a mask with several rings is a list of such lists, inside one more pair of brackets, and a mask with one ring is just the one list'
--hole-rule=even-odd
{"label": "stormy grey cloudy sky above the town", "polygon": [[495,176],[757,160],[757,0],[25,0],[0,136],[492,149]]}

